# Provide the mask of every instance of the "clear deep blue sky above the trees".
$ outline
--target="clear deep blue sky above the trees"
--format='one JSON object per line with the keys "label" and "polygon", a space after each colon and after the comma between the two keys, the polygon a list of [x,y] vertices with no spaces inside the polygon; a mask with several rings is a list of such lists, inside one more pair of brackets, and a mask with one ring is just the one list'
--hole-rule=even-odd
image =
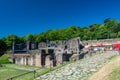
{"label": "clear deep blue sky above the trees", "polygon": [[120,0],[0,0],[0,38],[120,20]]}

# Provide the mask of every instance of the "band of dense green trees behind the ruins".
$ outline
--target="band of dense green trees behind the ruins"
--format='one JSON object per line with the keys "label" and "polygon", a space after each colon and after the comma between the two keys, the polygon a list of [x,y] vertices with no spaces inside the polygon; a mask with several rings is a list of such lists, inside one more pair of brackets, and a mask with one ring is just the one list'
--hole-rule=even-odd
{"label": "band of dense green trees behind the ruins", "polygon": [[[0,54],[3,51],[11,49],[12,42],[20,43],[26,41],[45,42],[48,40],[57,41],[80,37],[81,40],[99,40],[109,38],[120,38],[120,22],[117,19],[107,18],[104,24],[92,24],[86,27],[70,26],[58,30],[48,30],[40,34],[28,34],[19,37],[17,35],[8,35],[0,39]],[[1,53],[2,52],[2,53]]]}

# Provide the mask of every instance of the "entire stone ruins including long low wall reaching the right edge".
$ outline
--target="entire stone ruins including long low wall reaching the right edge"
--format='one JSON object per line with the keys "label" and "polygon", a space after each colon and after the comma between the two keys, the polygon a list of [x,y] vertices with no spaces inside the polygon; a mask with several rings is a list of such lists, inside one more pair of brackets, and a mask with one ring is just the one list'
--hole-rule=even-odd
{"label": "entire stone ruins including long low wall reaching the right edge", "polygon": [[60,42],[13,43],[11,59],[15,64],[53,67],[68,61],[79,60],[96,51],[113,50],[120,39],[81,41],[79,37]]}

